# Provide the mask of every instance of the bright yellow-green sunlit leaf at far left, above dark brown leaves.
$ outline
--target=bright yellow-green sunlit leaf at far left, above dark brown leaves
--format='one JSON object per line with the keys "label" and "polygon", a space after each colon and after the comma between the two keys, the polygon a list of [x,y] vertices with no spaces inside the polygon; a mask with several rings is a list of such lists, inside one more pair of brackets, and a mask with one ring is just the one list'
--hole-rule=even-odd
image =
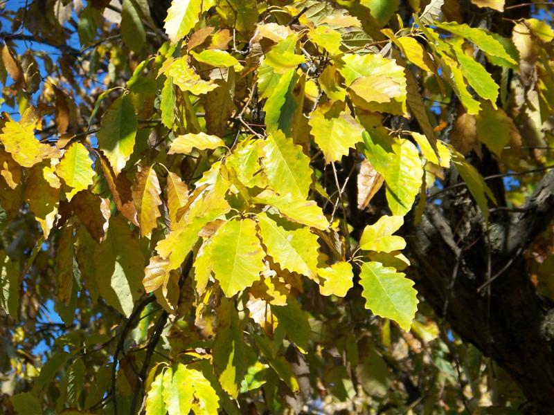
{"label": "bright yellow-green sunlit leaf at far left, above dark brown leaves", "polygon": [[92,185],[93,178],[96,176],[89,151],[80,142],[73,142],[66,149],[64,157],[55,167],[55,172],[67,186],[71,187],[71,190],[66,192],[68,201],[71,201],[77,192]]}

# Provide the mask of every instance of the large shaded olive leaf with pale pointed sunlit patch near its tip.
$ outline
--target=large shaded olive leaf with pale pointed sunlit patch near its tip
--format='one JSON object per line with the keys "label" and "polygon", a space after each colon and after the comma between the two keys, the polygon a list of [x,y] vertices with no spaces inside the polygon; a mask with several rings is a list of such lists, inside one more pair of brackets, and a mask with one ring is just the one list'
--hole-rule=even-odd
{"label": "large shaded olive leaf with pale pointed sunlit patch near its tip", "polygon": [[106,239],[94,252],[98,291],[109,306],[125,315],[142,295],[144,257],[139,241],[122,216],[111,216]]}

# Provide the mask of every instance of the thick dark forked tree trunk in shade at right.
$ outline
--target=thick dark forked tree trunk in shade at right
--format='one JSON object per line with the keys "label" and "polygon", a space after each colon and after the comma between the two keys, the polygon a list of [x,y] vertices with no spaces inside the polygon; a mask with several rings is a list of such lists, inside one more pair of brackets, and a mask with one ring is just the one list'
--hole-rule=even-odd
{"label": "thick dark forked tree trunk in shade at right", "polygon": [[[520,213],[491,217],[488,239],[474,230],[482,228],[476,216],[468,219],[473,223],[450,223],[451,210],[429,205],[418,228],[406,234],[418,292],[438,315],[446,313],[464,340],[508,371],[530,413],[554,414],[554,312],[535,292],[521,253],[553,218],[554,172]],[[463,225],[473,232],[460,238],[454,230]],[[491,276],[496,278],[486,284]]]}

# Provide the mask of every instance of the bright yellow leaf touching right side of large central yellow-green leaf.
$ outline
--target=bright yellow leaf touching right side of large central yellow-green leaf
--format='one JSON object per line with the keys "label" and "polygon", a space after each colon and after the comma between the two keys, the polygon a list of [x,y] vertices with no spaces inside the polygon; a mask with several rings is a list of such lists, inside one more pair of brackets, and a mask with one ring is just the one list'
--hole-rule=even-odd
{"label": "bright yellow leaf touching right side of large central yellow-green leaf", "polygon": [[291,226],[291,223],[262,212],[258,214],[258,226],[267,254],[281,268],[315,279],[317,236],[308,228]]}

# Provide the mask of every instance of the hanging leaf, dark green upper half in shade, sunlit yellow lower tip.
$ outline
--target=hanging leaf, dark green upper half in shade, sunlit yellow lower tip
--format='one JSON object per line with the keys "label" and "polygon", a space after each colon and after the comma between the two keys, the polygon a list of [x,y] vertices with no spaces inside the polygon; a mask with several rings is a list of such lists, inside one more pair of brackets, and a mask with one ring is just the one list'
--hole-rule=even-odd
{"label": "hanging leaf, dark green upper half in shade, sunlit yellow lower tip", "polygon": [[115,100],[102,117],[98,137],[98,147],[114,169],[120,174],[133,153],[136,136],[136,116],[129,95]]}

